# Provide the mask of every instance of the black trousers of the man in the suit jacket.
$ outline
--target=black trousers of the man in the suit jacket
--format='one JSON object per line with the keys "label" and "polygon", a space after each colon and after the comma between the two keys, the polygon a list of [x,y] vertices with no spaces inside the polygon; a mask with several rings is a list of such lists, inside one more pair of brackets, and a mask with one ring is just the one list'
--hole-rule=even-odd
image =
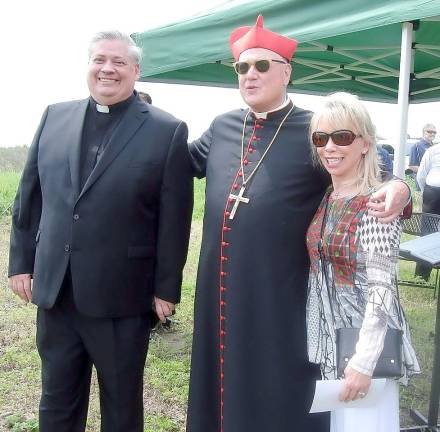
{"label": "black trousers of the man in the suit jacket", "polygon": [[42,363],[39,430],[85,431],[94,365],[101,431],[142,432],[149,316],[84,316],[75,307],[70,281],[68,271],[55,306],[38,309],[37,347]]}

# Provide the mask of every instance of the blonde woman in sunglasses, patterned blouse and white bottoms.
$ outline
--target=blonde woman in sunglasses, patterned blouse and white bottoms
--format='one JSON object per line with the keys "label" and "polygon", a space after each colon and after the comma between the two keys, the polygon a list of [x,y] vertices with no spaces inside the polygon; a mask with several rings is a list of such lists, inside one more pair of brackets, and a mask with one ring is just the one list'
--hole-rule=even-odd
{"label": "blonde woman in sunglasses, patterned blouse and white bottoms", "polygon": [[[330,174],[328,188],[307,231],[310,276],[308,352],[322,379],[336,379],[335,328],[360,328],[356,352],[344,371],[341,401],[368,393],[387,328],[403,331],[405,377],[420,371],[396,285],[400,218],[384,224],[368,213],[380,186],[375,128],[359,99],[328,96],[310,125],[316,163]],[[295,221],[292,221],[295,223]],[[374,407],[331,413],[332,432],[398,432],[399,390],[387,380]]]}

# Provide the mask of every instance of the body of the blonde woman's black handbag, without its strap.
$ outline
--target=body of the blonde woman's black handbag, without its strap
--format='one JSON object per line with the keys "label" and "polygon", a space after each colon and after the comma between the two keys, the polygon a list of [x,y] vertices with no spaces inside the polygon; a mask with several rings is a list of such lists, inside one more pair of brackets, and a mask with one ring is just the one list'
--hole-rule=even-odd
{"label": "body of the blonde woman's black handbag, without its strap", "polygon": [[[336,332],[336,367],[338,378],[344,376],[348,361],[356,351],[359,329],[344,327]],[[388,328],[383,350],[373,372],[374,378],[400,378],[402,370],[402,330]]]}

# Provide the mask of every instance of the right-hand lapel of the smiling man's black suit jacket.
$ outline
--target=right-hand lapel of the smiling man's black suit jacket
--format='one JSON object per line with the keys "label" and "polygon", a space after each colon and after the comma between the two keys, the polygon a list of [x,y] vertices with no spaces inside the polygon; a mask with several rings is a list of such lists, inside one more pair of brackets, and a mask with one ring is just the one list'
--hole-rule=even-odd
{"label": "right-hand lapel of the smiling man's black suit jacket", "polygon": [[135,99],[127,109],[124,117],[121,119],[113,136],[108,142],[101,159],[96,164],[90,177],[87,179],[78,199],[80,199],[85,192],[90,189],[93,183],[102,175],[107,167],[113,162],[116,156],[126,146],[130,138],[136,133],[141,124],[147,118],[148,106],[146,103]]}

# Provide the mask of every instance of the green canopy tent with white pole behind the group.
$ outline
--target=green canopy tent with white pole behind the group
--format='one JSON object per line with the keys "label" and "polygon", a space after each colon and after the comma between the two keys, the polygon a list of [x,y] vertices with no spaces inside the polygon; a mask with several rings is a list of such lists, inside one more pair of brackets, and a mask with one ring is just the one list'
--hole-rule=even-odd
{"label": "green canopy tent with white pole behind the group", "polygon": [[235,87],[229,34],[259,13],[265,26],[299,41],[289,91],[398,100],[395,173],[402,176],[408,102],[440,100],[440,1],[228,1],[133,34],[144,51],[141,81]]}

